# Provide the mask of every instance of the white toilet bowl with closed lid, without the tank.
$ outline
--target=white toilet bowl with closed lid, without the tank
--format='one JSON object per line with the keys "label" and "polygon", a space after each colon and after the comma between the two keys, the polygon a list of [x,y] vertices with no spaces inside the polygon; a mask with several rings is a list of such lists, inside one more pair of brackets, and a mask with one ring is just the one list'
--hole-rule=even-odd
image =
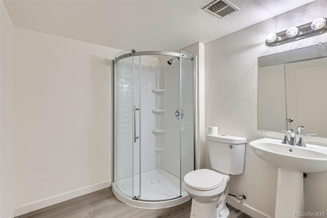
{"label": "white toilet bowl with closed lid, without the tank", "polygon": [[214,170],[199,169],[184,177],[183,187],[193,198],[190,217],[228,217],[226,186],[229,175]]}

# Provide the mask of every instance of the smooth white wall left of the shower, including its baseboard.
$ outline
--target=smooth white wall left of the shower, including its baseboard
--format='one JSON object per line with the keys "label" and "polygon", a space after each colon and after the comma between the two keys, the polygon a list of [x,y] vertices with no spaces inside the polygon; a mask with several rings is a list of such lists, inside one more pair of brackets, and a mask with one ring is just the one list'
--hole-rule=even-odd
{"label": "smooth white wall left of the shower, including its baseboard", "polygon": [[111,184],[111,69],[120,50],[15,29],[15,215]]}

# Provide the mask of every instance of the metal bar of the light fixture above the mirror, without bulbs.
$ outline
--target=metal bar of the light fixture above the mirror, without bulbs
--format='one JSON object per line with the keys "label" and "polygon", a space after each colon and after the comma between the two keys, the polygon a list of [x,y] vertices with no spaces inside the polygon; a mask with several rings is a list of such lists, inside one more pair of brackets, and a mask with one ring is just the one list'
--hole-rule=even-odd
{"label": "metal bar of the light fixture above the mirror, without bulbs", "polygon": [[[324,18],[325,20],[327,20],[327,18]],[[272,42],[268,42],[266,40],[266,46],[278,46],[278,45],[282,45],[282,44],[285,44],[285,43],[288,43],[288,42],[291,42],[291,41],[296,41],[296,40],[299,40],[299,39],[303,39],[303,38],[308,38],[308,37],[311,37],[311,36],[316,36],[316,35],[320,35],[322,33],[325,33],[327,32],[327,25],[325,25],[323,28],[319,29],[319,30],[313,30],[311,28],[311,23],[308,23],[308,24],[303,24],[301,26],[298,26],[298,34],[294,37],[288,37],[286,35],[286,31],[282,31],[282,32],[279,32],[279,33],[276,33],[277,35],[277,38],[275,41],[272,41]]]}

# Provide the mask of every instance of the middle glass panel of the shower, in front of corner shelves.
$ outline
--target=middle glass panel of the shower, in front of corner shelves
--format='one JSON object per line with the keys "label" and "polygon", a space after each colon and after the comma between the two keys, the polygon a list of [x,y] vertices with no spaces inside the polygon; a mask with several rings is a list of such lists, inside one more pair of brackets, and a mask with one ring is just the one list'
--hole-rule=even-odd
{"label": "middle glass panel of the shower, in front of corner shelves", "polygon": [[142,57],[140,199],[143,201],[180,197],[180,125],[175,116],[180,102],[180,64],[178,59],[168,64],[172,57]]}

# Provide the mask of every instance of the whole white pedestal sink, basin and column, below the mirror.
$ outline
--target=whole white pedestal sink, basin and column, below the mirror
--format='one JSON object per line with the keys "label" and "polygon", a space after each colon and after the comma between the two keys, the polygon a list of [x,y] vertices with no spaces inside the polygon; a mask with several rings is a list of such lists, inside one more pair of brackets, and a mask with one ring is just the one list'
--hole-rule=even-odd
{"label": "whole white pedestal sink, basin and column, below the mirror", "polygon": [[259,158],[278,168],[275,217],[294,217],[304,211],[303,172],[327,170],[327,147],[298,147],[278,139],[258,139],[249,144]]}

